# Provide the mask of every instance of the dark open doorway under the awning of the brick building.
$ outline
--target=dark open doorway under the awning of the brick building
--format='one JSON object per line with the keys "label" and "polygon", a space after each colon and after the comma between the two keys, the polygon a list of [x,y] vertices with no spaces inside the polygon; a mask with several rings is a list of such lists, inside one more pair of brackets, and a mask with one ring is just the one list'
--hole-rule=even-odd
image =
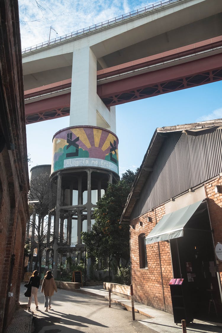
{"label": "dark open doorway under the awning of the brick building", "polygon": [[206,202],[187,222],[184,236],[170,245],[174,278],[184,279],[193,317],[218,322],[222,306]]}

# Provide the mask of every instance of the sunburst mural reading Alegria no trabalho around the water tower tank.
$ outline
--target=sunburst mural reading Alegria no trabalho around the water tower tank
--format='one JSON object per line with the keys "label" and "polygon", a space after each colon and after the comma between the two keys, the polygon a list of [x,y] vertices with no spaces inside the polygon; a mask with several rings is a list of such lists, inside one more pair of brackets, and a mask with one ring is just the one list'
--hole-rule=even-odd
{"label": "sunburst mural reading Alegria no trabalho around the water tower tank", "polygon": [[118,174],[118,138],[92,126],[69,127],[53,137],[51,173],[67,167],[101,167]]}

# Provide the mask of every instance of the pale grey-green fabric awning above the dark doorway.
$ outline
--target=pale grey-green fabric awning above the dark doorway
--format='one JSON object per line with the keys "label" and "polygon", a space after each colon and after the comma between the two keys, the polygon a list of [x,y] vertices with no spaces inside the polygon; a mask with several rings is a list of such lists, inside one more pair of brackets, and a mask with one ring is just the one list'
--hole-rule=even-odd
{"label": "pale grey-green fabric awning above the dark doorway", "polygon": [[183,236],[183,228],[203,200],[164,215],[146,237],[146,244]]}

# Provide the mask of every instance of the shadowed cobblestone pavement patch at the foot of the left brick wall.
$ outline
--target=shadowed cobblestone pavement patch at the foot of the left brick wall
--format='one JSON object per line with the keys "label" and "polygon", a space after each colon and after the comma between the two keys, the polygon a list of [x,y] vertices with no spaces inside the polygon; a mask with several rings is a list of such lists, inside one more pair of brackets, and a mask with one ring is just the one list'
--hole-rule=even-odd
{"label": "shadowed cobblestone pavement patch at the foot of the left brick wall", "polygon": [[32,312],[20,308],[18,311],[15,311],[13,320],[8,326],[6,333],[31,333],[32,319]]}

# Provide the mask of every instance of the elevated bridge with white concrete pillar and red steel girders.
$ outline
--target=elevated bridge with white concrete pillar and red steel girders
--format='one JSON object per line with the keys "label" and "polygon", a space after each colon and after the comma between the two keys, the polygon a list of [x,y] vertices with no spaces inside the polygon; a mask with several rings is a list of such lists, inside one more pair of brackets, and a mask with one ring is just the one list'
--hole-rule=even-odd
{"label": "elevated bridge with white concrete pillar and red steel girders", "polygon": [[70,115],[115,132],[115,105],[221,80],[221,64],[222,2],[162,1],[24,53],[27,123]]}

